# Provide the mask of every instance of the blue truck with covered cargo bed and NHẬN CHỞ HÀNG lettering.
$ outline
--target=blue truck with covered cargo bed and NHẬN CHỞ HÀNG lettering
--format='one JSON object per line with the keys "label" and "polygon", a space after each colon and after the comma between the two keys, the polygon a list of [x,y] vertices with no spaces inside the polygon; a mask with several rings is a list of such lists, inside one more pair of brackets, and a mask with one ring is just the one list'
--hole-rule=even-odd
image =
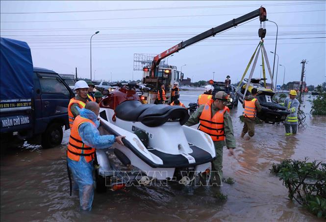
{"label": "blue truck with covered cargo bed and NH\u1eacN CH\u1ede H\u00c0NG lettering", "polygon": [[61,144],[73,91],[54,71],[33,67],[27,43],[0,38],[1,147]]}

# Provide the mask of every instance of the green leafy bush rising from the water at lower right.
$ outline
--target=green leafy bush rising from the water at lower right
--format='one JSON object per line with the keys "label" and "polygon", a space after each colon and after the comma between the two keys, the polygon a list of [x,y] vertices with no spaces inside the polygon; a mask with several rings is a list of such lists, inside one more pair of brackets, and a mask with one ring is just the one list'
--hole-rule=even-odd
{"label": "green leafy bush rising from the water at lower right", "polygon": [[326,164],[317,161],[285,159],[272,164],[283,185],[288,188],[289,198],[297,200],[306,209],[326,218]]}

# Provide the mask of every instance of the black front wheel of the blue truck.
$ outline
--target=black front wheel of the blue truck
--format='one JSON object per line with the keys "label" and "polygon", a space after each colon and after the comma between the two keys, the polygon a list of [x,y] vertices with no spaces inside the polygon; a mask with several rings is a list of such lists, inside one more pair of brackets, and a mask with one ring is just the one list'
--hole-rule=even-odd
{"label": "black front wheel of the blue truck", "polygon": [[62,142],[62,126],[58,123],[52,123],[47,130],[42,133],[41,145],[43,148],[52,148],[58,146]]}

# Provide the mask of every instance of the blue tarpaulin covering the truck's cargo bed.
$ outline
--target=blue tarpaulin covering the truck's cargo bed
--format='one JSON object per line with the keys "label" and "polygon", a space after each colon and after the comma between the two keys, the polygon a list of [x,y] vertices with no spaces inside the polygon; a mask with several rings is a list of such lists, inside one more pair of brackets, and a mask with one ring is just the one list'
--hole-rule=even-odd
{"label": "blue tarpaulin covering the truck's cargo bed", "polygon": [[0,91],[4,101],[27,101],[33,95],[33,62],[27,43],[1,38]]}

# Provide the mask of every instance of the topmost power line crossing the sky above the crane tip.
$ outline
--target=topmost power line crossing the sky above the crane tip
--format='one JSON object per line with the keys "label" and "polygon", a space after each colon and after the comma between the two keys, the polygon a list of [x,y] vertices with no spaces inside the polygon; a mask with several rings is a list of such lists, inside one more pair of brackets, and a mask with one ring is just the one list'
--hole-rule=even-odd
{"label": "topmost power line crossing the sky above the crane tip", "polygon": [[[264,6],[291,6],[306,4],[322,4],[325,1],[306,1],[306,2],[290,2],[264,4]],[[210,6],[181,6],[181,7],[156,7],[156,8],[129,8],[129,9],[103,9],[103,10],[85,10],[85,11],[56,11],[56,12],[1,12],[1,14],[54,14],[54,13],[80,13],[80,12],[116,12],[116,11],[145,11],[145,10],[173,10],[173,9],[199,9],[199,8],[235,8],[235,7],[253,7],[257,4],[249,5],[210,5]]]}

